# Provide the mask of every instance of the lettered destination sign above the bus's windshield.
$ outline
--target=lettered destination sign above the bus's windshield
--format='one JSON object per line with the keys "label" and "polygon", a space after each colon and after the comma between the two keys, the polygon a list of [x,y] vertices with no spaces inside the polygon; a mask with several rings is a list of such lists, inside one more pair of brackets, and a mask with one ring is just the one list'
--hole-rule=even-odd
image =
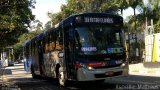
{"label": "lettered destination sign above the bus's windshield", "polygon": [[85,23],[114,23],[113,18],[85,17]]}

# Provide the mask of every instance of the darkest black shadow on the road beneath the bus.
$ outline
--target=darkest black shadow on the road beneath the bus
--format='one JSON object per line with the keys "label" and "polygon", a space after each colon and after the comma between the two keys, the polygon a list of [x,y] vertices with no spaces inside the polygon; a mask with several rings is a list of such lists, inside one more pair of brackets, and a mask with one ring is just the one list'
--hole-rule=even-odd
{"label": "darkest black shadow on the road beneath the bus", "polygon": [[33,80],[29,79],[29,82],[17,82],[16,85],[21,90],[108,90],[114,89],[115,86],[112,84],[100,84],[100,83],[81,83],[72,84],[68,87],[61,87],[54,82],[54,80]]}

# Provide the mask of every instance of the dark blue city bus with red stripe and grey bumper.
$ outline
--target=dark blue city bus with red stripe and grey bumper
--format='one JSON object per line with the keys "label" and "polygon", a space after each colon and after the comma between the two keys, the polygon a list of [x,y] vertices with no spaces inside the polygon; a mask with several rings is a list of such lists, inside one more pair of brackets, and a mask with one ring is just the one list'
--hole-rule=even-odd
{"label": "dark blue city bus with red stripe and grey bumper", "polygon": [[109,13],[69,16],[23,45],[33,78],[98,81],[128,75],[123,18]]}

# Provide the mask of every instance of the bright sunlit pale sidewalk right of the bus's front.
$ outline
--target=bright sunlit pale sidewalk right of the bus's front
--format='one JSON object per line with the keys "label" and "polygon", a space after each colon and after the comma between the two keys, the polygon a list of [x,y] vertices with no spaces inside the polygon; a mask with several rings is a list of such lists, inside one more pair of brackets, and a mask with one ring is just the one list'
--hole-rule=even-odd
{"label": "bright sunlit pale sidewalk right of the bus's front", "polygon": [[138,63],[129,65],[130,75],[160,77],[160,63]]}

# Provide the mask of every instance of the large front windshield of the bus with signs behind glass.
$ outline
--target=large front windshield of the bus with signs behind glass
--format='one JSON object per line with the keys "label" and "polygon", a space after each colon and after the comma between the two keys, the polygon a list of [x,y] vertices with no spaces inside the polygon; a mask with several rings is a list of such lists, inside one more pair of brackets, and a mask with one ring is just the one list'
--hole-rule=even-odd
{"label": "large front windshield of the bus with signs behind glass", "polygon": [[[111,54],[122,52],[121,28],[84,26],[75,28],[76,50],[80,54]],[[115,49],[116,50],[113,50]]]}

